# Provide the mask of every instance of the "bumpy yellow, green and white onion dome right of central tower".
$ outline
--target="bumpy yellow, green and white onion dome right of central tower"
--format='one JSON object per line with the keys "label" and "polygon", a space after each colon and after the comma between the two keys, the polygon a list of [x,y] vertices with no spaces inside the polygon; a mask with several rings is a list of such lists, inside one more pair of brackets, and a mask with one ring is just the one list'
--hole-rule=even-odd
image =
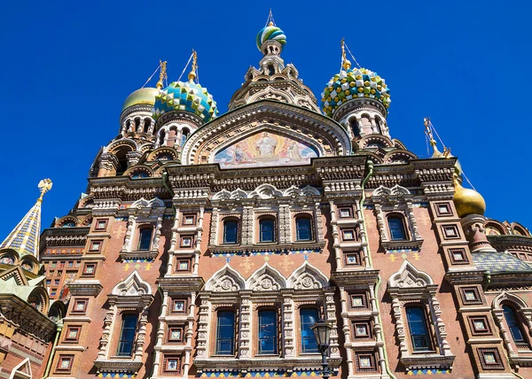
{"label": "bumpy yellow, green and white onion dome right of central tower", "polygon": [[327,83],[325,92],[322,94],[323,110],[327,116],[331,117],[341,104],[356,97],[377,99],[386,108],[391,103],[390,90],[384,79],[377,73],[365,68],[354,70],[347,68],[334,75]]}

